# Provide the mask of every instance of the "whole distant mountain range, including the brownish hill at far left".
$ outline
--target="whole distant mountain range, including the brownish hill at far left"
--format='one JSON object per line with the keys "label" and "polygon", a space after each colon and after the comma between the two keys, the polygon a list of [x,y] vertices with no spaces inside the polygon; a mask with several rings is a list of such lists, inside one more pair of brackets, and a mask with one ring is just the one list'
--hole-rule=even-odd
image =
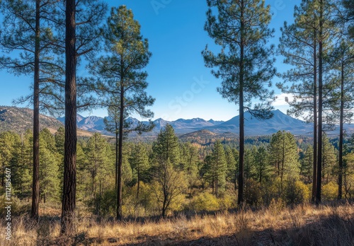
{"label": "whole distant mountain range, including the brownish hill at far left", "polygon": [[[76,116],[76,122],[79,129],[85,132],[100,132],[101,134],[109,135],[110,133],[105,130],[103,117],[89,116],[83,117]],[[0,131],[13,130],[25,131],[25,129],[32,128],[33,123],[33,110],[21,107],[7,107],[0,106]],[[139,120],[135,118],[128,118],[132,122],[132,126],[136,126]],[[55,131],[64,123],[64,117],[54,119],[45,115],[40,115],[40,126],[52,129]],[[147,122],[144,122],[147,123]],[[166,124],[171,124],[175,129],[176,134],[190,134],[195,132],[196,135],[214,135],[215,136],[236,136],[239,134],[239,116],[229,119],[227,122],[205,120],[200,118],[194,119],[177,119],[175,121],[166,121],[164,119],[154,120],[155,127],[143,136],[156,136]],[[251,116],[249,112],[245,112],[245,134],[246,136],[261,136],[270,135],[277,131],[290,131],[295,135],[311,136],[312,124],[285,115],[280,110],[273,111],[273,118],[260,120]],[[346,125],[347,133],[354,132],[354,124]],[[332,134],[337,134],[333,131]],[[194,134],[194,135],[195,135]],[[194,136],[193,135],[193,136]],[[190,135],[187,135],[190,136]]]}

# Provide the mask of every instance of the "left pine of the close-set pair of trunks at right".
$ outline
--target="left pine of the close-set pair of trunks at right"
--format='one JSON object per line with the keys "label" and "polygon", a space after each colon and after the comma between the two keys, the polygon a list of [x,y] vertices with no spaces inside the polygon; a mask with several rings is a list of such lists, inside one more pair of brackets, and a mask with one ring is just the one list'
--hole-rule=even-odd
{"label": "left pine of the close-set pair of trunks at right", "polygon": [[[308,122],[314,122],[314,151],[312,173],[312,202],[316,197],[317,175],[317,103],[318,103],[318,16],[311,1],[302,1],[294,10],[295,23],[284,23],[280,37],[279,52],[285,57],[285,64],[293,66],[282,74],[285,80],[277,86],[283,93],[292,93],[294,100],[287,101],[292,107],[288,113],[295,116],[309,111]],[[309,21],[311,20],[311,21]],[[286,86],[292,82],[292,86]]]}

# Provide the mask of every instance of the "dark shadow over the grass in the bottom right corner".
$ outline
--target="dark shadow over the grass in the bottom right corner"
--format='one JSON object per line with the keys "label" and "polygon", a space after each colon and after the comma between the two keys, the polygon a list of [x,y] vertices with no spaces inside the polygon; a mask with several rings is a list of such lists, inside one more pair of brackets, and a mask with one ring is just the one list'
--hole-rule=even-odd
{"label": "dark shadow over the grass in the bottom right corner", "polygon": [[[344,217],[344,218],[343,218]],[[299,245],[299,246],[354,246],[354,215],[339,216],[337,213],[322,216],[319,221],[299,225],[297,221],[289,223],[288,227],[281,230],[249,230],[246,233],[235,235],[222,235],[217,238],[200,237],[195,240],[183,238],[147,237],[136,238],[135,244],[130,246],[258,246],[258,245]],[[110,241],[111,240],[111,241]],[[108,240],[108,245],[115,245],[114,239]],[[117,242],[117,241],[115,241]]]}

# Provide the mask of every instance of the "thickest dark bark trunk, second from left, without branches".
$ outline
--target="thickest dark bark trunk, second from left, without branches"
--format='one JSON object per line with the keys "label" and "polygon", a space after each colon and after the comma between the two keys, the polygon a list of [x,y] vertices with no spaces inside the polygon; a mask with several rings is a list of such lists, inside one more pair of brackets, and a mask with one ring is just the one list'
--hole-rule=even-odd
{"label": "thickest dark bark trunk, second from left, without branches", "polygon": [[61,233],[74,230],[76,207],[76,3],[66,1],[65,141]]}

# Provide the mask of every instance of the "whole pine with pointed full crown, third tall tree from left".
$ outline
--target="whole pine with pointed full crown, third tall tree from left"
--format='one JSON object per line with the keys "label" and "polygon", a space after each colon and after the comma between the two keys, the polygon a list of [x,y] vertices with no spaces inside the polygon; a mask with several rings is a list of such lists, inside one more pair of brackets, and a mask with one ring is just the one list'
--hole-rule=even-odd
{"label": "whole pine with pointed full crown, third tall tree from left", "polygon": [[[126,6],[112,8],[104,37],[105,52],[108,55],[99,57],[89,67],[93,74],[99,77],[96,90],[98,95],[103,95],[103,105],[108,105],[115,112],[113,117],[115,123],[118,123],[119,119],[119,124],[115,124],[115,132],[119,133],[117,219],[121,220],[122,141],[125,120],[132,112],[145,118],[154,116],[150,110],[146,109],[154,104],[154,98],[145,92],[147,72],[142,71],[149,63],[151,53],[148,50],[147,40],[142,39],[139,23],[134,20],[132,11],[127,10]],[[134,130],[149,131],[152,127],[152,123],[139,124],[139,129]]]}

